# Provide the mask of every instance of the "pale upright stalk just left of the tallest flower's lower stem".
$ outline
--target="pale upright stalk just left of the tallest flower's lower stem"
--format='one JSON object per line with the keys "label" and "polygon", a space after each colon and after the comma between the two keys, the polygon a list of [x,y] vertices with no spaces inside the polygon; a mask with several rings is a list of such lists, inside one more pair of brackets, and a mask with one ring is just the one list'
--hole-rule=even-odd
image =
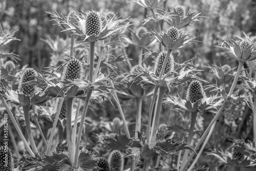
{"label": "pale upright stalk just left of the tallest flower's lower stem", "polygon": [[66,118],[67,118],[67,141],[68,141],[68,151],[70,157],[71,166],[74,166],[74,149],[72,148],[72,126],[71,126],[71,118],[72,118],[72,102],[73,98],[66,99]]}

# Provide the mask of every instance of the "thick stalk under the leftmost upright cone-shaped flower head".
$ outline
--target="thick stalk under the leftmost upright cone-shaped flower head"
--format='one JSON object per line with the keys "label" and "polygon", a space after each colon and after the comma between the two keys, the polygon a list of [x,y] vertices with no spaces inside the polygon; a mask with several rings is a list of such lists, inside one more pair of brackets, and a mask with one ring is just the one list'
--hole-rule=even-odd
{"label": "thick stalk under the leftmost upright cone-shaped flower head", "polygon": [[24,105],[23,106],[23,111],[24,111],[24,118],[25,118],[26,130],[27,130],[27,133],[28,133],[29,141],[30,141],[33,152],[35,154],[37,154],[38,151],[37,151],[37,147],[35,145],[35,141],[34,141],[33,134],[32,134],[32,131],[31,131],[31,126],[30,126],[29,105]]}

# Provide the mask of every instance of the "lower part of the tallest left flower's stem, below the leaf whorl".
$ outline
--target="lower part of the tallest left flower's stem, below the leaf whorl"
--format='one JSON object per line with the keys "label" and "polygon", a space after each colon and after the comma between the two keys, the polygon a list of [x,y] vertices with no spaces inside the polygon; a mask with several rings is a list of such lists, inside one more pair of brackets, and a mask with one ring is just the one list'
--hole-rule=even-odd
{"label": "lower part of the tallest left flower's stem, below the leaf whorl", "polygon": [[84,103],[83,110],[82,110],[82,116],[80,119],[80,125],[79,125],[79,129],[78,129],[76,148],[75,148],[75,158],[74,158],[74,162],[75,162],[74,167],[75,168],[78,168],[78,155],[79,155],[79,147],[80,147],[80,141],[81,141],[82,130],[83,130],[83,123],[84,123],[84,120],[86,120],[86,113],[88,110],[92,92],[93,92],[93,89],[88,89],[87,96],[86,96],[86,102]]}

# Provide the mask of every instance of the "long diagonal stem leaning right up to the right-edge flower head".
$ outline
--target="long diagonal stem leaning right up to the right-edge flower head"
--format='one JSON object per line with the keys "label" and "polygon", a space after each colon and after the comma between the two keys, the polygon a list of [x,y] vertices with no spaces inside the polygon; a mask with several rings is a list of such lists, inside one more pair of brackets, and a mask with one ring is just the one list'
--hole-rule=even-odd
{"label": "long diagonal stem leaning right up to the right-edge flower head", "polygon": [[[239,75],[240,75],[240,72],[243,68],[243,65],[244,65],[244,62],[239,62],[239,66],[238,66],[238,69],[237,69],[237,74],[236,76],[234,77],[234,80],[232,82],[232,86],[229,90],[229,93],[228,93],[228,96],[231,96],[233,91],[234,91],[234,88],[236,87],[237,85],[237,81],[238,81],[238,78],[239,78]],[[194,148],[194,151],[196,152],[197,149],[199,148],[199,146],[201,145],[201,143],[203,142],[203,140],[206,138],[207,134],[209,133],[210,129],[211,129],[211,126],[214,125],[214,123],[217,121],[217,119],[219,118],[219,116],[221,115],[222,111],[224,110],[225,108],[225,105],[227,104],[227,101],[224,101],[221,108],[219,109],[219,111],[217,112],[217,114],[215,115],[214,119],[211,120],[210,124],[208,125],[207,129],[205,130],[204,134],[202,135],[202,137],[200,138],[199,142],[197,143],[196,147]],[[209,135],[210,136],[210,135]],[[191,159],[194,157],[195,153],[192,153],[188,160],[186,161],[185,165],[183,168],[181,168],[181,171],[184,171],[184,169],[188,166],[189,162],[191,161]],[[196,161],[197,162],[197,161]]]}

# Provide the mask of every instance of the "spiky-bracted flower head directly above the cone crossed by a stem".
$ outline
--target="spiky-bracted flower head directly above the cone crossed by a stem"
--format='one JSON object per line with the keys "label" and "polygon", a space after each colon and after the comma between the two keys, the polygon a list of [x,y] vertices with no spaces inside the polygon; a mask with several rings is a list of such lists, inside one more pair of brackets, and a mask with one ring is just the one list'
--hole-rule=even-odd
{"label": "spiky-bracted flower head directly above the cone crossed by a stem", "polygon": [[184,47],[190,41],[196,41],[194,40],[195,37],[186,38],[187,34],[182,35],[177,27],[170,27],[166,33],[162,31],[158,33],[156,30],[149,31],[149,33],[152,34],[161,45],[172,51]]}

